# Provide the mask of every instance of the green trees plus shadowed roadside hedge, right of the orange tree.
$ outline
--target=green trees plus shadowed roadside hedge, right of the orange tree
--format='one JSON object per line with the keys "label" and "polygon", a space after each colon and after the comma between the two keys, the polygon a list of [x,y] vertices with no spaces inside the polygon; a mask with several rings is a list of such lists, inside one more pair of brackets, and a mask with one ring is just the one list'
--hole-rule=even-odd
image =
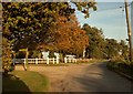
{"label": "green trees plus shadowed roadside hedge, right of the orange tree", "polygon": [[104,39],[101,29],[91,28],[89,24],[84,24],[82,29],[89,35],[86,58],[109,59],[109,69],[130,76],[133,75],[133,65],[129,60],[129,46],[124,40],[117,42],[114,39]]}

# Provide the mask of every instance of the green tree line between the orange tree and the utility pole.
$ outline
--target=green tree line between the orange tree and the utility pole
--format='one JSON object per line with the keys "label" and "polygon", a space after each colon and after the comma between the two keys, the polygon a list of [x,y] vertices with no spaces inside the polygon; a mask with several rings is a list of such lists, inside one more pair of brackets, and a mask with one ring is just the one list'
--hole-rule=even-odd
{"label": "green tree line between the orange tree and the utility pole", "polygon": [[85,56],[89,59],[114,59],[129,60],[129,46],[124,40],[105,39],[102,29],[84,24],[82,28],[89,35],[89,46]]}

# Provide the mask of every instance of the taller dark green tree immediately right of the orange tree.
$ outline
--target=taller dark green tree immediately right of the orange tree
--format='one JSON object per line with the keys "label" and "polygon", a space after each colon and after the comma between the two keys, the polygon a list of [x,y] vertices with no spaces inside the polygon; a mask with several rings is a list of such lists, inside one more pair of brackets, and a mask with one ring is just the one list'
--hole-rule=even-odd
{"label": "taller dark green tree immediately right of the orange tree", "polygon": [[102,59],[104,56],[104,36],[102,29],[91,28],[84,24],[82,28],[89,35],[89,46],[86,46],[86,58]]}

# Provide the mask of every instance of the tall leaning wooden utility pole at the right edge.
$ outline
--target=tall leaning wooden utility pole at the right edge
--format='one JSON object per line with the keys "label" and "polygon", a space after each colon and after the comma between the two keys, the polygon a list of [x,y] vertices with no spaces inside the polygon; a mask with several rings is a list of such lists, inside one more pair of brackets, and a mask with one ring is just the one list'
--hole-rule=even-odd
{"label": "tall leaning wooden utility pole at the right edge", "polygon": [[127,8],[127,0],[125,0],[125,14],[126,14],[126,24],[127,24],[127,34],[129,34],[129,45],[130,45],[130,61],[132,62],[132,41],[131,41],[131,24],[129,18],[129,8]]}

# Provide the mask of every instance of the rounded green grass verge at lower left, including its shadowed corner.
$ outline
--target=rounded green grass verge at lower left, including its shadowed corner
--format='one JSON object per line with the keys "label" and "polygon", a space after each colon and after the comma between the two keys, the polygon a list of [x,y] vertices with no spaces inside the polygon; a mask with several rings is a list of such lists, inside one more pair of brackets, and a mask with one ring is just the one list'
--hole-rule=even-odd
{"label": "rounded green grass verge at lower left, including its shadowed corner", "polygon": [[2,83],[3,92],[47,92],[49,81],[38,72],[13,71]]}

